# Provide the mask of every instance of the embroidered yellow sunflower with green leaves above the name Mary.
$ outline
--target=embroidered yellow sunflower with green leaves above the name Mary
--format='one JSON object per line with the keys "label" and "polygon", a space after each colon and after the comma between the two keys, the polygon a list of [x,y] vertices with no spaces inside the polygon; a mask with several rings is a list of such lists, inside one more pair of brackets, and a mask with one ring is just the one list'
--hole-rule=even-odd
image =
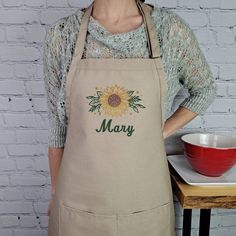
{"label": "embroidered yellow sunflower with green leaves above the name Mary", "polygon": [[[139,108],[145,108],[142,104],[137,102],[141,101],[141,98],[137,95],[133,95],[134,91],[127,90],[124,87],[113,85],[108,86],[104,90],[97,90],[97,96],[87,96],[87,99],[91,99],[89,105],[91,108],[89,111],[96,112],[101,115],[101,109],[104,114],[111,116],[121,116],[125,114],[129,107],[135,112],[139,112]],[[137,93],[139,93],[137,91]]]}

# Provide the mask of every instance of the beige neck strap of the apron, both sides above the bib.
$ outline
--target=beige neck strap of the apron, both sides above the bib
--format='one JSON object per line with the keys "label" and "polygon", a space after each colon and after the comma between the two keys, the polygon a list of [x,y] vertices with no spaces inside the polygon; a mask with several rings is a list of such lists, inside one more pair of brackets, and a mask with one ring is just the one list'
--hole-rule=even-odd
{"label": "beige neck strap of the apron, both sides above the bib", "polygon": [[[154,22],[151,18],[151,9],[153,6],[149,4],[145,4],[140,0],[136,0],[137,6],[143,16],[144,24],[145,24],[145,32],[148,41],[148,50],[149,55],[151,58],[158,58],[160,56],[160,45],[159,45],[159,37],[155,30]],[[89,17],[92,13],[94,1],[85,9],[84,15],[81,19],[80,29],[77,37],[76,48],[75,48],[75,56],[82,58],[86,35],[87,35],[87,28],[89,23]]]}

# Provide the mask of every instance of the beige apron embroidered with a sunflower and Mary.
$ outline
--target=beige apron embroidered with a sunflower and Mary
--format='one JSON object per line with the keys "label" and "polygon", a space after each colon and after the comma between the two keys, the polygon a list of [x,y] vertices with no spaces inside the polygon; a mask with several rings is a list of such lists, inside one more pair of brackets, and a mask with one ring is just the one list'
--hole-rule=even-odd
{"label": "beige apron embroidered with a sunflower and Mary", "polygon": [[92,6],[66,80],[68,129],[48,236],[174,236],[153,6],[137,1],[150,58],[85,59]]}

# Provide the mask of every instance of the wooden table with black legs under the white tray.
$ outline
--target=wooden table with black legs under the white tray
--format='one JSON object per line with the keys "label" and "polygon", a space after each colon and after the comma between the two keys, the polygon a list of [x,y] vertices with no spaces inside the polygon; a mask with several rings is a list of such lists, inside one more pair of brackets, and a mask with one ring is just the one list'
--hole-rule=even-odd
{"label": "wooden table with black legs under the white tray", "polygon": [[211,208],[236,208],[236,186],[187,184],[169,164],[173,193],[183,208],[183,236],[191,235],[192,209],[200,208],[199,236],[210,235]]}

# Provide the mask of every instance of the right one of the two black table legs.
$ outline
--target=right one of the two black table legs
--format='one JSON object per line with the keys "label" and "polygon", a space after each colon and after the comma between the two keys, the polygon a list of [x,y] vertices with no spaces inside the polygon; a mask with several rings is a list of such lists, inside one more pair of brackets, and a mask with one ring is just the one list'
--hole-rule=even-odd
{"label": "right one of the two black table legs", "polygon": [[199,236],[210,235],[211,209],[200,209]]}

